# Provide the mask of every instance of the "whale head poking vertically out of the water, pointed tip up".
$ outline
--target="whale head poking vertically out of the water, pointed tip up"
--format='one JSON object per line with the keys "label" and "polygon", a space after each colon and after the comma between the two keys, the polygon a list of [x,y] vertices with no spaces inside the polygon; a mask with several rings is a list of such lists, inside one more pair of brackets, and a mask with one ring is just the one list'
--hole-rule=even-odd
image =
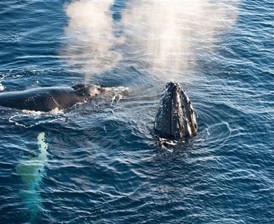
{"label": "whale head poking vertically out of the water, pointed tip up", "polygon": [[168,82],[154,122],[160,137],[182,140],[198,131],[195,111],[186,92],[177,82]]}

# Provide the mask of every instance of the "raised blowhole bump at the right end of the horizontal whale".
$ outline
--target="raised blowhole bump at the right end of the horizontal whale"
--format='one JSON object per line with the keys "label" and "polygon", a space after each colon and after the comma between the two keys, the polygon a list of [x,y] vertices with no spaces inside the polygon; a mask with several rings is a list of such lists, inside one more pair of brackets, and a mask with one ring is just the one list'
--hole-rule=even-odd
{"label": "raised blowhole bump at the right end of the horizontal whale", "polygon": [[104,88],[97,85],[75,85],[73,89],[75,89],[79,95],[88,99],[95,98],[105,92]]}

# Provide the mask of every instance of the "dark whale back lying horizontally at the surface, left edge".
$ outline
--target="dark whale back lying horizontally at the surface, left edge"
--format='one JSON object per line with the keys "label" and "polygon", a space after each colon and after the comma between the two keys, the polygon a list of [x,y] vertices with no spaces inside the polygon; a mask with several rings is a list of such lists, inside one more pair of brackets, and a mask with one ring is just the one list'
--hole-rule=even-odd
{"label": "dark whale back lying horizontally at the surface, left edge", "polygon": [[29,111],[51,111],[69,109],[79,102],[86,102],[103,93],[96,85],[73,87],[40,87],[25,91],[0,93],[0,106]]}

